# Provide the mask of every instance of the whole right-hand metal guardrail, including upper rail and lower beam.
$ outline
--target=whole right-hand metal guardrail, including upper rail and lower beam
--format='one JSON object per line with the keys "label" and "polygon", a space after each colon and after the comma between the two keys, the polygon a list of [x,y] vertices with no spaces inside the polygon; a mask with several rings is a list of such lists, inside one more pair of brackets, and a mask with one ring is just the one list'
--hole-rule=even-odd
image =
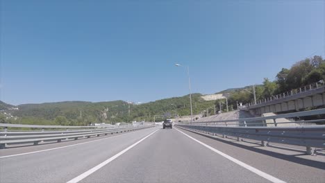
{"label": "whole right-hand metal guardrail, including upper rail and lower beam", "polygon": [[[269,142],[286,143],[295,146],[306,146],[306,153],[312,155],[315,153],[315,148],[325,148],[325,125],[278,127],[276,126],[276,119],[299,116],[313,116],[318,114],[325,114],[325,109],[249,119],[235,119],[199,123],[178,123],[176,126],[185,128],[187,130],[204,132],[213,135],[219,134],[224,138],[227,136],[237,137],[238,141],[241,141],[242,139],[258,140],[261,141],[263,146],[267,146]],[[247,126],[247,121],[265,121],[267,119],[274,119],[274,127]],[[320,123],[324,121],[325,119],[317,119],[310,121],[301,121],[301,123]],[[297,121],[286,123],[297,123]]]}

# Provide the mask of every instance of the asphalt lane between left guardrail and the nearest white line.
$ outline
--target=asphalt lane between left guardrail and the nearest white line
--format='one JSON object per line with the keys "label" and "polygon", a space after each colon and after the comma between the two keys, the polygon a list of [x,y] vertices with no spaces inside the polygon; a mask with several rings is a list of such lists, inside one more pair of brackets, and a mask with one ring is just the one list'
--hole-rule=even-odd
{"label": "asphalt lane between left guardrail and the nearest white line", "polygon": [[155,130],[147,128],[78,146],[0,158],[0,182],[67,182]]}

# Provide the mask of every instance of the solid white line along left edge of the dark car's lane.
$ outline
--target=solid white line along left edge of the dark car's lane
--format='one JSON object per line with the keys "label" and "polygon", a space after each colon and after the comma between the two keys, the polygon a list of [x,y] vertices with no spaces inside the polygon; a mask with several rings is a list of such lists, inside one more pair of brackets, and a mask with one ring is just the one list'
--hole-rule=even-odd
{"label": "solid white line along left edge of the dark car's lane", "polygon": [[[158,129],[160,130],[160,129]],[[157,132],[158,130],[151,132],[151,134],[154,134],[155,132]],[[123,155],[124,153],[126,153],[126,151],[130,150],[131,148],[133,148],[134,146],[137,146],[138,143],[144,141],[144,139],[147,139],[149,136],[151,136],[151,134],[148,134],[146,137],[143,137],[140,141],[137,141],[135,143],[133,143],[133,145],[129,146],[128,148],[122,150],[121,152],[117,153],[116,155],[114,155],[113,157],[110,157],[108,159],[106,159],[104,162],[102,162],[101,164],[98,164],[97,166],[94,166],[93,168],[91,168],[89,171],[86,171],[85,173],[82,173],[81,175],[78,175],[77,177],[74,177],[72,180],[70,180],[67,183],[76,183],[79,182],[81,180],[83,180],[85,177],[88,177],[90,174],[94,173],[95,171],[98,171],[101,167],[105,166],[106,164],[109,164],[110,162],[112,162],[114,159],[117,159],[117,157],[119,157],[120,155]]]}

